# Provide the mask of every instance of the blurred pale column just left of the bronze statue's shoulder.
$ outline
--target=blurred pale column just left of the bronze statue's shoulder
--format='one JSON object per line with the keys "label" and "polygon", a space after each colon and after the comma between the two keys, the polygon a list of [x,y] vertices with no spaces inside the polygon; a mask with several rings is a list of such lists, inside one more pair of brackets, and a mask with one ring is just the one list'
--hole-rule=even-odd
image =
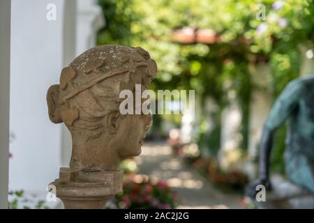
{"label": "blurred pale column just left of the bronze statue's shoulder", "polygon": [[249,67],[252,83],[255,88],[251,93],[249,126],[248,126],[248,162],[247,174],[255,178],[256,167],[253,161],[257,157],[258,145],[262,135],[262,128],[271,109],[271,89],[269,78],[271,68],[267,63],[258,63]]}

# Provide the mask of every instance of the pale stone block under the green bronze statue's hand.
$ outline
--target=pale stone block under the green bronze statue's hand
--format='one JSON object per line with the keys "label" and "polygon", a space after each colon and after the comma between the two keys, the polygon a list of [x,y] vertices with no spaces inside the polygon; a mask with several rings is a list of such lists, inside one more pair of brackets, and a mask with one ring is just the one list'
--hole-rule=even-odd
{"label": "pale stone block under the green bronze statue's hand", "polygon": [[266,201],[254,201],[260,209],[287,208],[287,209],[313,209],[314,194],[304,187],[295,185],[290,181],[272,183],[273,189],[266,193]]}

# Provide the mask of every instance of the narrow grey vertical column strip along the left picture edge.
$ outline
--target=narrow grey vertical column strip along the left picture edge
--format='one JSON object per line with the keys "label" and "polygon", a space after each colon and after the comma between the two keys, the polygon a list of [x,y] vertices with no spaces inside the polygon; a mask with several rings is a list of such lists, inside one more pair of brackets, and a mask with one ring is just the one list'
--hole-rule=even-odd
{"label": "narrow grey vertical column strip along the left picture edge", "polygon": [[8,208],[10,0],[0,1],[0,208]]}

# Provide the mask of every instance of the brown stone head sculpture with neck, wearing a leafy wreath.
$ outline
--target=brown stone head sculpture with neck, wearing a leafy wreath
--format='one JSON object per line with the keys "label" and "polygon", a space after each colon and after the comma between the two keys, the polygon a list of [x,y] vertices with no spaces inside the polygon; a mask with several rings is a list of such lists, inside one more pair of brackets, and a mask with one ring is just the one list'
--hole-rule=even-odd
{"label": "brown stone head sculpture with neck, wearing a leafy wreath", "polygon": [[87,50],[50,86],[50,120],[72,135],[70,169],[115,170],[120,158],[140,155],[151,116],[119,112],[119,93],[146,88],[156,63],[141,47],[100,45]]}

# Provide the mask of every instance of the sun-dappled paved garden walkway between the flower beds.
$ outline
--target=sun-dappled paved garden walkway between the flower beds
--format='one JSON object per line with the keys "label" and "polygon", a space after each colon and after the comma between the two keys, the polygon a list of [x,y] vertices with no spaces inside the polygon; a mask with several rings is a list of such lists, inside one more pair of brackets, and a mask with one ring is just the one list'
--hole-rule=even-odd
{"label": "sun-dappled paved garden walkway between the flower beds", "polygon": [[241,195],[225,194],[208,180],[174,157],[170,146],[147,143],[136,159],[138,174],[166,180],[181,198],[178,208],[241,208]]}

